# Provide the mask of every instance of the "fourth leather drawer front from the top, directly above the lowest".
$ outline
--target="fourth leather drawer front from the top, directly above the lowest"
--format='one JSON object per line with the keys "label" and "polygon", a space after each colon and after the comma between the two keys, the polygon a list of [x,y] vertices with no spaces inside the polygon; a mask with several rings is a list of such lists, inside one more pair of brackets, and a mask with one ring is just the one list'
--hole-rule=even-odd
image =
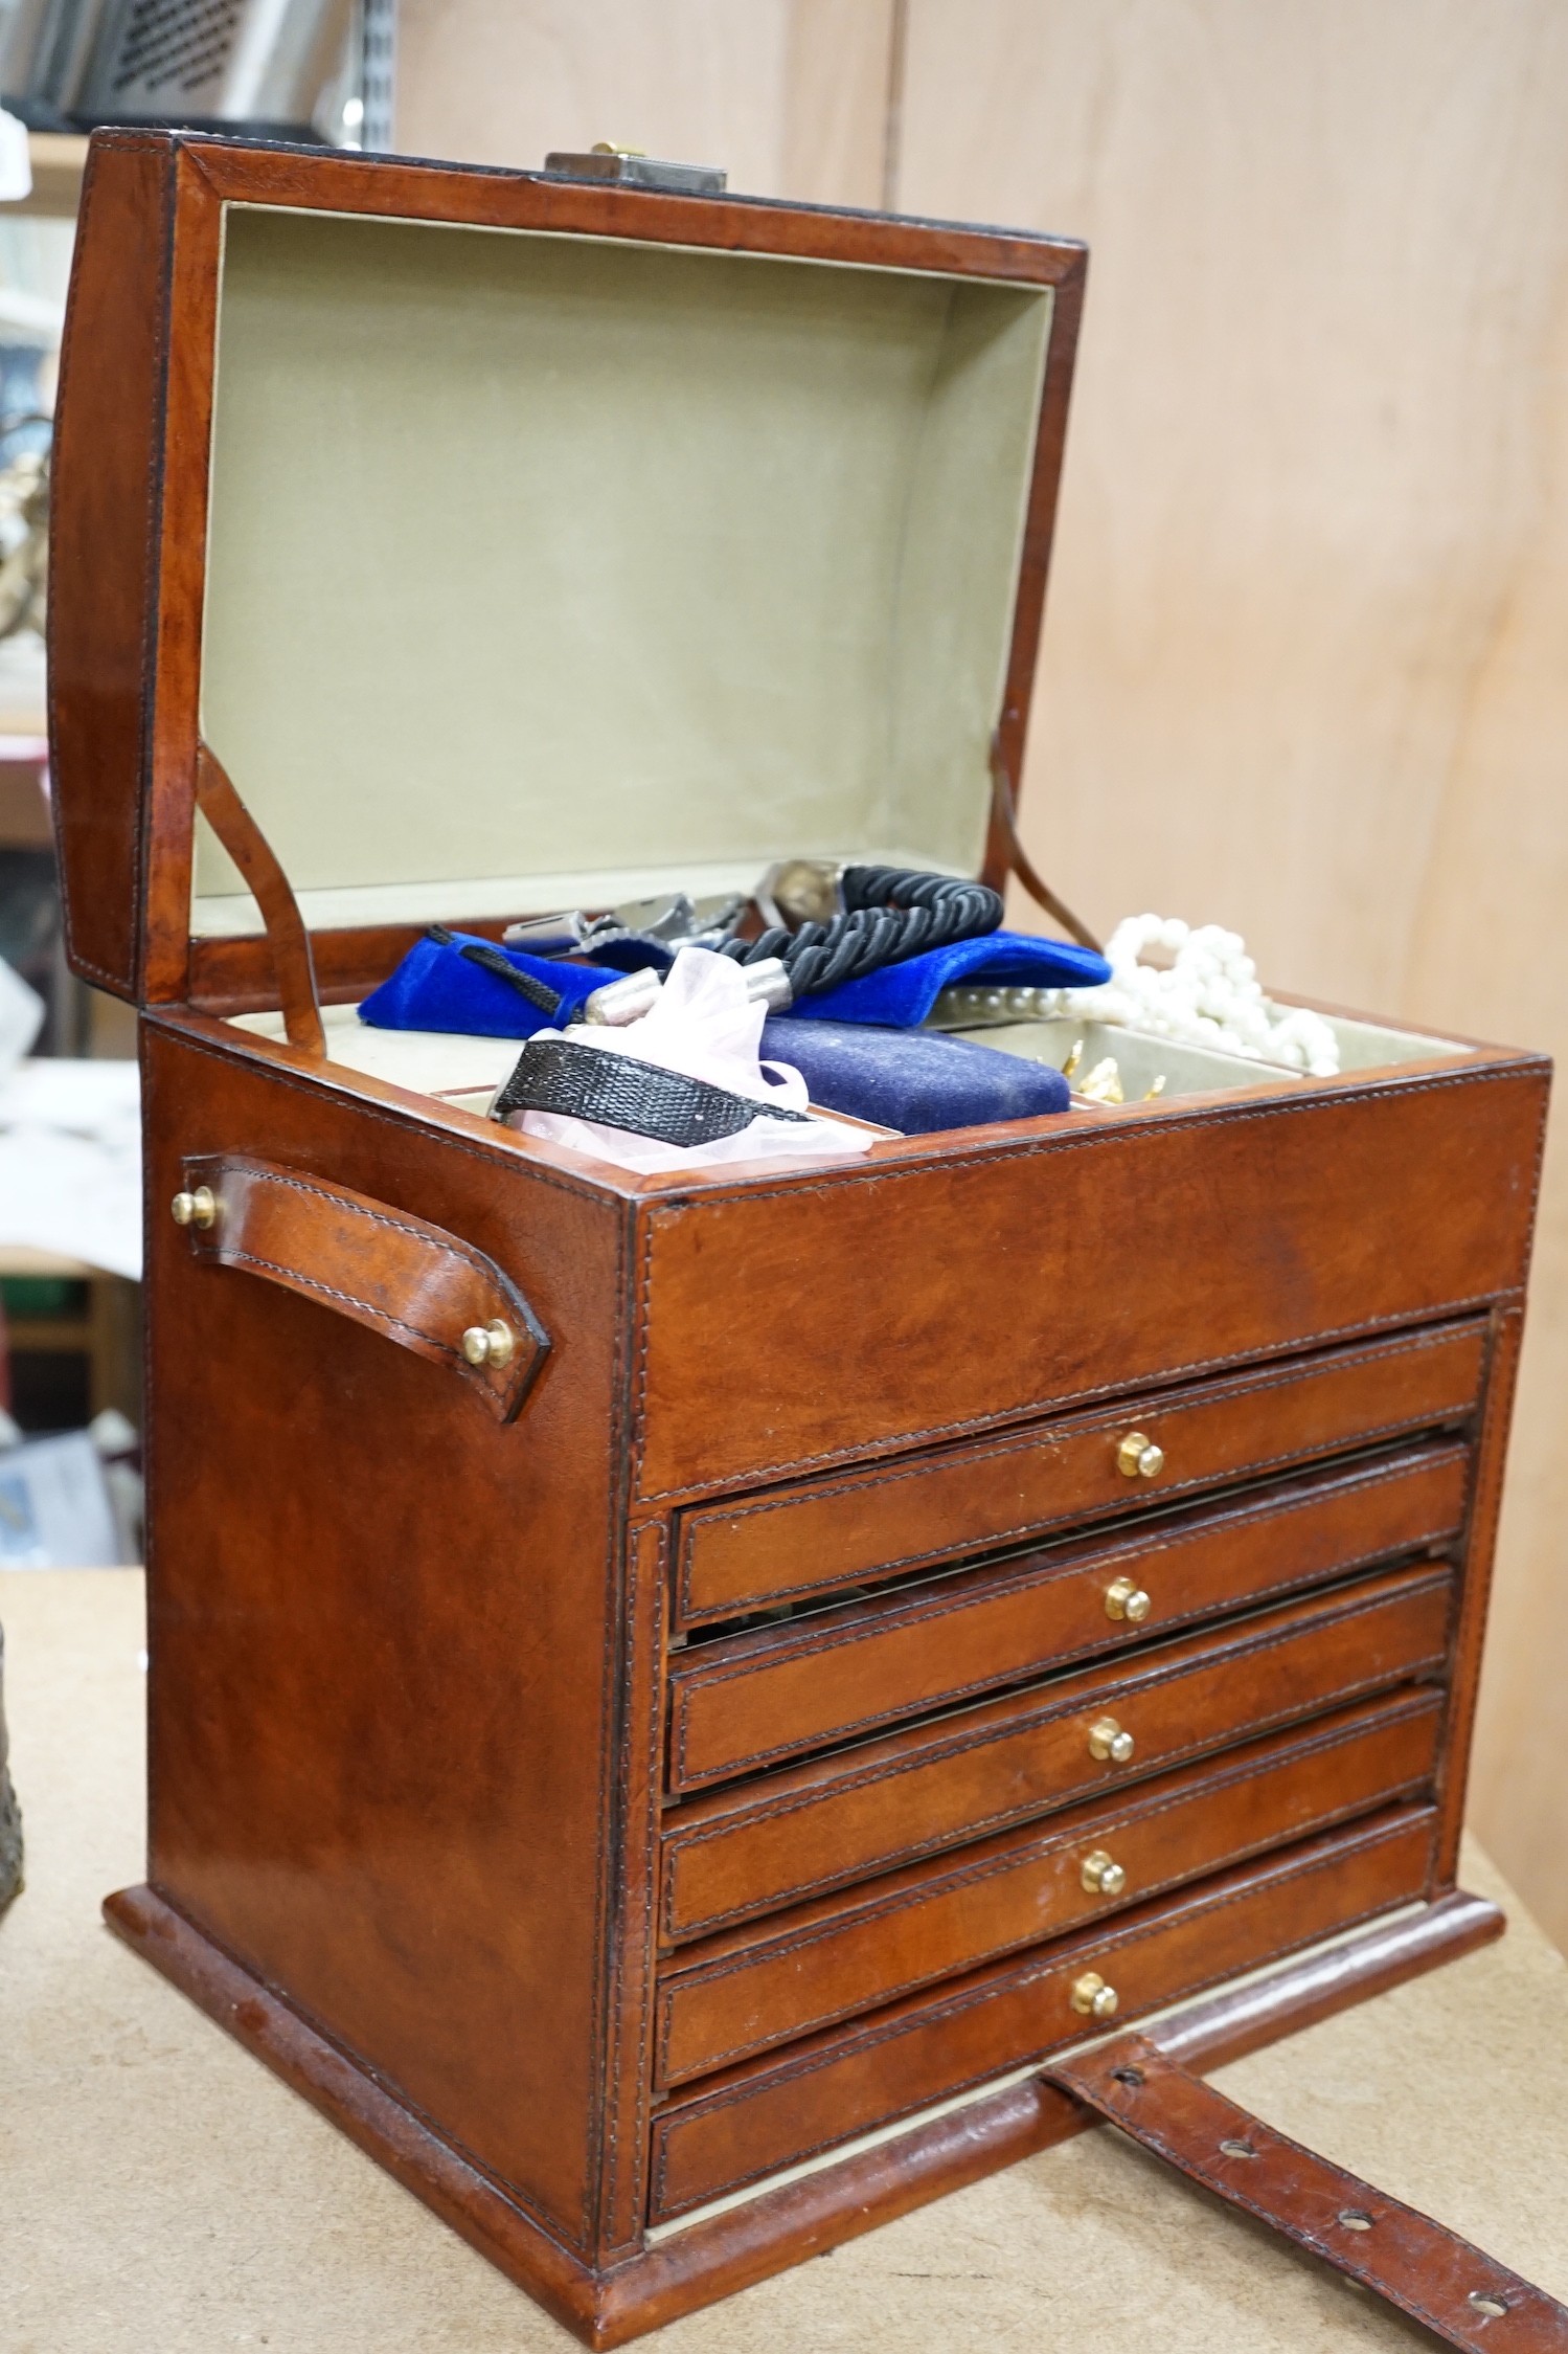
{"label": "fourth leather drawer front from the top, directly above the lowest", "polygon": [[[724,1940],[658,1991],[658,2081],[682,2083],[750,2060],[943,1977],[1039,1944],[1182,1881],[1239,1864],[1394,1798],[1425,1794],[1436,1770],[1443,1697],[1427,1688],[1248,1742],[1051,1817],[1046,1831],[966,1848],[875,1890],[804,1907]],[[1126,1874],[1117,1897],[1084,1883],[1084,1860]]]}

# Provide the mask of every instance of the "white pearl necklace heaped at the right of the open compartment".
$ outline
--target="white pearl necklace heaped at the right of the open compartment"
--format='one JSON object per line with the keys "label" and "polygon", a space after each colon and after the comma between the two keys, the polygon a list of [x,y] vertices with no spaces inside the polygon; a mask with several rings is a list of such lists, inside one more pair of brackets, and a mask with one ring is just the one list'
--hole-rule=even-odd
{"label": "white pearl necklace heaped at the right of the open compartment", "polygon": [[[1166,949],[1168,970],[1143,965],[1145,949]],[[1248,1062],[1269,1062],[1312,1078],[1338,1078],[1340,1040],[1305,1005],[1274,1005],[1239,932],[1180,916],[1126,916],[1105,956],[1112,967],[1100,989],[1009,989],[1006,1003],[1030,998],[1037,1019],[1072,1017],[1218,1048]]]}

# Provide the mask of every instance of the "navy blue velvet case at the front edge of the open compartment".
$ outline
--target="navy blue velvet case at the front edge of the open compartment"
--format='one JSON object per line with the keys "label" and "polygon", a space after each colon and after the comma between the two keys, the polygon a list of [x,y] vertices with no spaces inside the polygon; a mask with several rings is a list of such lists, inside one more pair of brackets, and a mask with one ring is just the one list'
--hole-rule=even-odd
{"label": "navy blue velvet case at the front edge of the open compartment", "polygon": [[1067,1109],[1067,1080],[1048,1062],[1023,1062],[945,1031],[797,1022],[790,1012],[764,1024],[762,1055],[792,1064],[823,1111],[846,1111],[905,1137]]}

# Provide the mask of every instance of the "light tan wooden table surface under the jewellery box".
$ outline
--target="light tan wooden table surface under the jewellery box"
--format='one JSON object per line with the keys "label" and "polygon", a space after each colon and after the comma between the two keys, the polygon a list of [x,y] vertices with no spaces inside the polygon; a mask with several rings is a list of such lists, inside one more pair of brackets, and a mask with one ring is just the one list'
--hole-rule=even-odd
{"label": "light tan wooden table surface under the jewellery box", "polygon": [[[0,1919],[0,2342],[9,2354],[564,2354],[564,2330],[101,1928],[99,1897],[141,1876],[139,1572],[0,1575],[0,1624],[28,1834],[28,1886]],[[1568,2298],[1568,1966],[1474,1850],[1467,1881],[1509,1907],[1502,1944],[1215,2081]],[[1105,2130],[656,2342],[661,2354],[1432,2345]]]}

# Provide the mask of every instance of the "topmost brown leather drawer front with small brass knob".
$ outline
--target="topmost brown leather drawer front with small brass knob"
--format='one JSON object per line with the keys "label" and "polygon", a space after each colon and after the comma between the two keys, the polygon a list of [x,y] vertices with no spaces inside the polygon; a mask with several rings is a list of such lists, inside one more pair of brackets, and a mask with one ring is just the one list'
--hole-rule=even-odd
{"label": "topmost brown leather drawer front with small brass knob", "polygon": [[[708,1504],[682,1514],[677,1620],[698,1627],[738,1617],[1460,1422],[1481,1394],[1483,1351],[1481,1323],[1436,1325],[1164,1398],[1131,1398],[919,1464]],[[1117,1467],[1117,1443],[1133,1429],[1164,1450],[1152,1481],[1128,1481]]]}

